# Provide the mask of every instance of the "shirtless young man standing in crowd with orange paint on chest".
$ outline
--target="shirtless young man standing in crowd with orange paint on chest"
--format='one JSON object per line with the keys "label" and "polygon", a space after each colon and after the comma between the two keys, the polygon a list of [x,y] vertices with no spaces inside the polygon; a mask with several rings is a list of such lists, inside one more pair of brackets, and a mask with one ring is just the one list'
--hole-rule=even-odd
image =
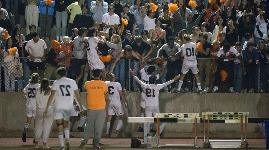
{"label": "shirtless young man standing in crowd with orange paint on chest", "polygon": [[164,41],[166,43],[166,31],[160,28],[161,25],[160,19],[156,18],[154,22],[155,22],[155,28],[149,30],[148,38],[155,40],[158,40],[159,38],[164,38]]}

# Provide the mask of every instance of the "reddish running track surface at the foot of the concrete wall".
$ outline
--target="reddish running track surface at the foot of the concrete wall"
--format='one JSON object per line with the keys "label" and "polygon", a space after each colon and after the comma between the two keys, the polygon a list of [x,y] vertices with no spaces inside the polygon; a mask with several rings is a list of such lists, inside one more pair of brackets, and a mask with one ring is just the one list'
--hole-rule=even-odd
{"label": "reddish running track surface at the foot of the concrete wall", "polygon": [[[139,138],[142,142],[143,139]],[[231,140],[231,139],[230,139]],[[248,139],[247,140],[250,147],[252,148],[265,148],[265,139]],[[40,144],[42,145],[42,138],[40,139]],[[71,146],[79,146],[81,138],[71,138]],[[130,147],[131,138],[101,138],[102,144],[101,147]],[[156,146],[155,141],[149,141],[152,147]],[[161,139],[160,144],[193,144],[193,139]],[[198,146],[203,146],[203,139],[198,139]],[[33,137],[27,138],[26,143],[23,143],[19,137],[0,137],[0,148],[1,147],[22,147],[22,146],[31,146],[33,145]],[[49,138],[47,142],[48,146],[60,146],[58,138]],[[92,138],[89,139],[86,147],[92,147]]]}

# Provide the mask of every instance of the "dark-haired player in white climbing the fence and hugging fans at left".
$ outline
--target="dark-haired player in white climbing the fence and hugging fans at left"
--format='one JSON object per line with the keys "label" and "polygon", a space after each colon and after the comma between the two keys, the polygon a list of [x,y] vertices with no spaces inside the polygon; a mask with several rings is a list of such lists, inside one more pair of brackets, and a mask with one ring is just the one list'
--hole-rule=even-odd
{"label": "dark-haired player in white climbing the fence and hugging fans at left", "polygon": [[99,38],[96,37],[97,30],[94,27],[91,27],[88,29],[88,43],[86,45],[87,49],[87,59],[88,63],[91,69],[101,69],[103,72],[103,79],[104,75],[107,72],[104,63],[100,60],[96,47],[99,43],[104,44],[105,42]]}

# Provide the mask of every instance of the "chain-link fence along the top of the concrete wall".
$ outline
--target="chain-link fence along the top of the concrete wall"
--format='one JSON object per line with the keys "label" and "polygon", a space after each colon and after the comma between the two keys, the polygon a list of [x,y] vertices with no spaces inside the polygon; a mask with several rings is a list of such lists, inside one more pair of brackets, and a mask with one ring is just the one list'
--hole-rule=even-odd
{"label": "chain-link fence along the top of the concrete wall", "polygon": [[[63,58],[62,58],[63,59]],[[66,62],[64,58],[64,61]],[[71,58],[76,59],[76,58]],[[85,61],[86,58],[85,58]],[[105,67],[107,70],[111,70],[114,60],[105,63]],[[0,86],[1,91],[22,91],[23,88],[28,84],[29,78],[31,73],[37,72],[42,73],[40,77],[47,78],[51,81],[51,83],[58,79],[59,77],[55,73],[58,67],[65,66],[66,63],[62,63],[60,66],[53,66],[48,62],[43,62],[46,66],[46,69],[43,71],[31,71],[29,69],[29,58],[28,57],[19,57],[15,58],[14,61],[11,62],[4,62],[3,58],[0,63],[1,70],[0,70]],[[254,88],[256,92],[268,92],[268,69],[267,71],[260,71],[260,64],[246,67],[246,76],[242,75],[242,66],[241,64],[234,64],[234,61],[223,61],[219,60],[217,62],[217,67],[215,69],[211,69],[212,66],[212,58],[197,58],[197,67],[199,69],[199,79],[202,83],[202,89],[208,90],[214,87],[218,87],[221,92],[229,92],[233,87],[235,92],[245,92],[244,90],[247,89],[247,92]],[[114,68],[113,73],[116,76],[116,82],[120,82],[122,85],[122,89],[124,92],[139,92],[142,89],[140,88],[139,84],[133,79],[129,72],[129,68],[133,68],[135,71],[135,75],[140,78],[140,69],[139,69],[140,62],[134,59],[120,59]],[[155,66],[155,74],[160,73],[162,70],[162,66],[158,64],[150,64],[145,63],[144,69],[147,72],[147,68],[149,66]],[[167,66],[165,67],[165,73],[163,76],[160,77],[156,81],[157,84],[161,84],[167,82],[170,79],[173,79],[176,74],[181,73],[181,66],[182,61],[178,59],[176,62],[168,62]],[[65,66],[66,67],[66,66]],[[262,66],[264,68],[264,66]],[[268,67],[268,66],[267,66]],[[69,67],[67,67],[69,70]],[[252,71],[252,72],[250,72]],[[255,72],[253,74],[253,71]],[[78,75],[78,74],[77,74]],[[254,75],[255,77],[250,77],[250,75]],[[85,91],[83,88],[84,83],[92,77],[92,73],[88,62],[86,63],[84,70],[82,72],[82,77],[80,80],[79,88],[82,91]],[[253,85],[254,83],[254,85]],[[168,92],[173,90],[173,88],[178,87],[178,82],[175,82],[174,85],[169,85],[168,87],[164,87],[161,92]],[[197,92],[197,85],[196,79],[189,70],[186,74],[183,85],[181,88],[181,92]],[[250,91],[251,92],[251,91]]]}

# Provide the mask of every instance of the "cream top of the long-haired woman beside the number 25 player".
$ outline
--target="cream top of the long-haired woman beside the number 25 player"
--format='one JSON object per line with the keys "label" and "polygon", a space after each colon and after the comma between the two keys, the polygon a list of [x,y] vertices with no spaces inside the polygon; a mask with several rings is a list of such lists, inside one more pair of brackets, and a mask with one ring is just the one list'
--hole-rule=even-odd
{"label": "cream top of the long-haired woman beside the number 25 player", "polygon": [[[50,94],[49,95],[45,95],[45,91],[42,91],[42,93],[40,93],[40,86],[35,90],[35,104],[37,108],[40,109],[46,109],[47,107],[47,101],[50,98]],[[54,106],[54,101],[55,101],[55,97],[53,97],[51,103],[50,103],[50,107]]]}

